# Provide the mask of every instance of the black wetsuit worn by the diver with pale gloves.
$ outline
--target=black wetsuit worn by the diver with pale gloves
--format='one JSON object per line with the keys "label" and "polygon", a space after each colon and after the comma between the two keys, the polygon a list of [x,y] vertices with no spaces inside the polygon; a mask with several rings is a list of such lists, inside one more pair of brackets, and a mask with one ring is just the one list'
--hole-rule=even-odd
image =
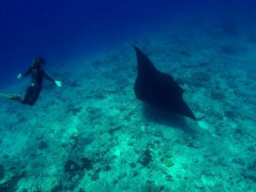
{"label": "black wetsuit worn by the diver with pale gloves", "polygon": [[40,92],[42,90],[42,81],[45,77],[47,80],[55,82],[53,78],[48,76],[43,68],[40,65],[31,66],[28,68],[26,73],[23,73],[22,76],[28,76],[31,73],[31,83],[27,87],[26,94],[24,96],[24,100],[19,100],[22,104],[26,105],[34,105]]}

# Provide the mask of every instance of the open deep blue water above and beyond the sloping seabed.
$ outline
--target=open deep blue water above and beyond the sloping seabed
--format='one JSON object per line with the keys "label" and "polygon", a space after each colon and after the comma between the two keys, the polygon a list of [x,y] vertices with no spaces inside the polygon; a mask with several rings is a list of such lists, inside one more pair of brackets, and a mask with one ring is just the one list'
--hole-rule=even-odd
{"label": "open deep blue water above and beyond the sloping seabed", "polygon": [[254,1],[2,1],[1,84],[12,82],[37,55],[49,65],[63,63],[176,17],[211,26],[225,17],[253,26],[254,8]]}

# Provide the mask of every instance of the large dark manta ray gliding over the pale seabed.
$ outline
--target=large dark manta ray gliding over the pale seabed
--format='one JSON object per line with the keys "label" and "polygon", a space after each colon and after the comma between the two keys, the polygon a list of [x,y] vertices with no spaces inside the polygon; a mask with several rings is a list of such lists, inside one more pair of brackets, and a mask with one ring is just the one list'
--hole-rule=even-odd
{"label": "large dark manta ray gliding over the pale seabed", "polygon": [[174,77],[158,71],[149,58],[138,47],[132,45],[137,56],[137,77],[134,85],[136,98],[160,109],[175,114],[196,117],[183,100],[185,90]]}

